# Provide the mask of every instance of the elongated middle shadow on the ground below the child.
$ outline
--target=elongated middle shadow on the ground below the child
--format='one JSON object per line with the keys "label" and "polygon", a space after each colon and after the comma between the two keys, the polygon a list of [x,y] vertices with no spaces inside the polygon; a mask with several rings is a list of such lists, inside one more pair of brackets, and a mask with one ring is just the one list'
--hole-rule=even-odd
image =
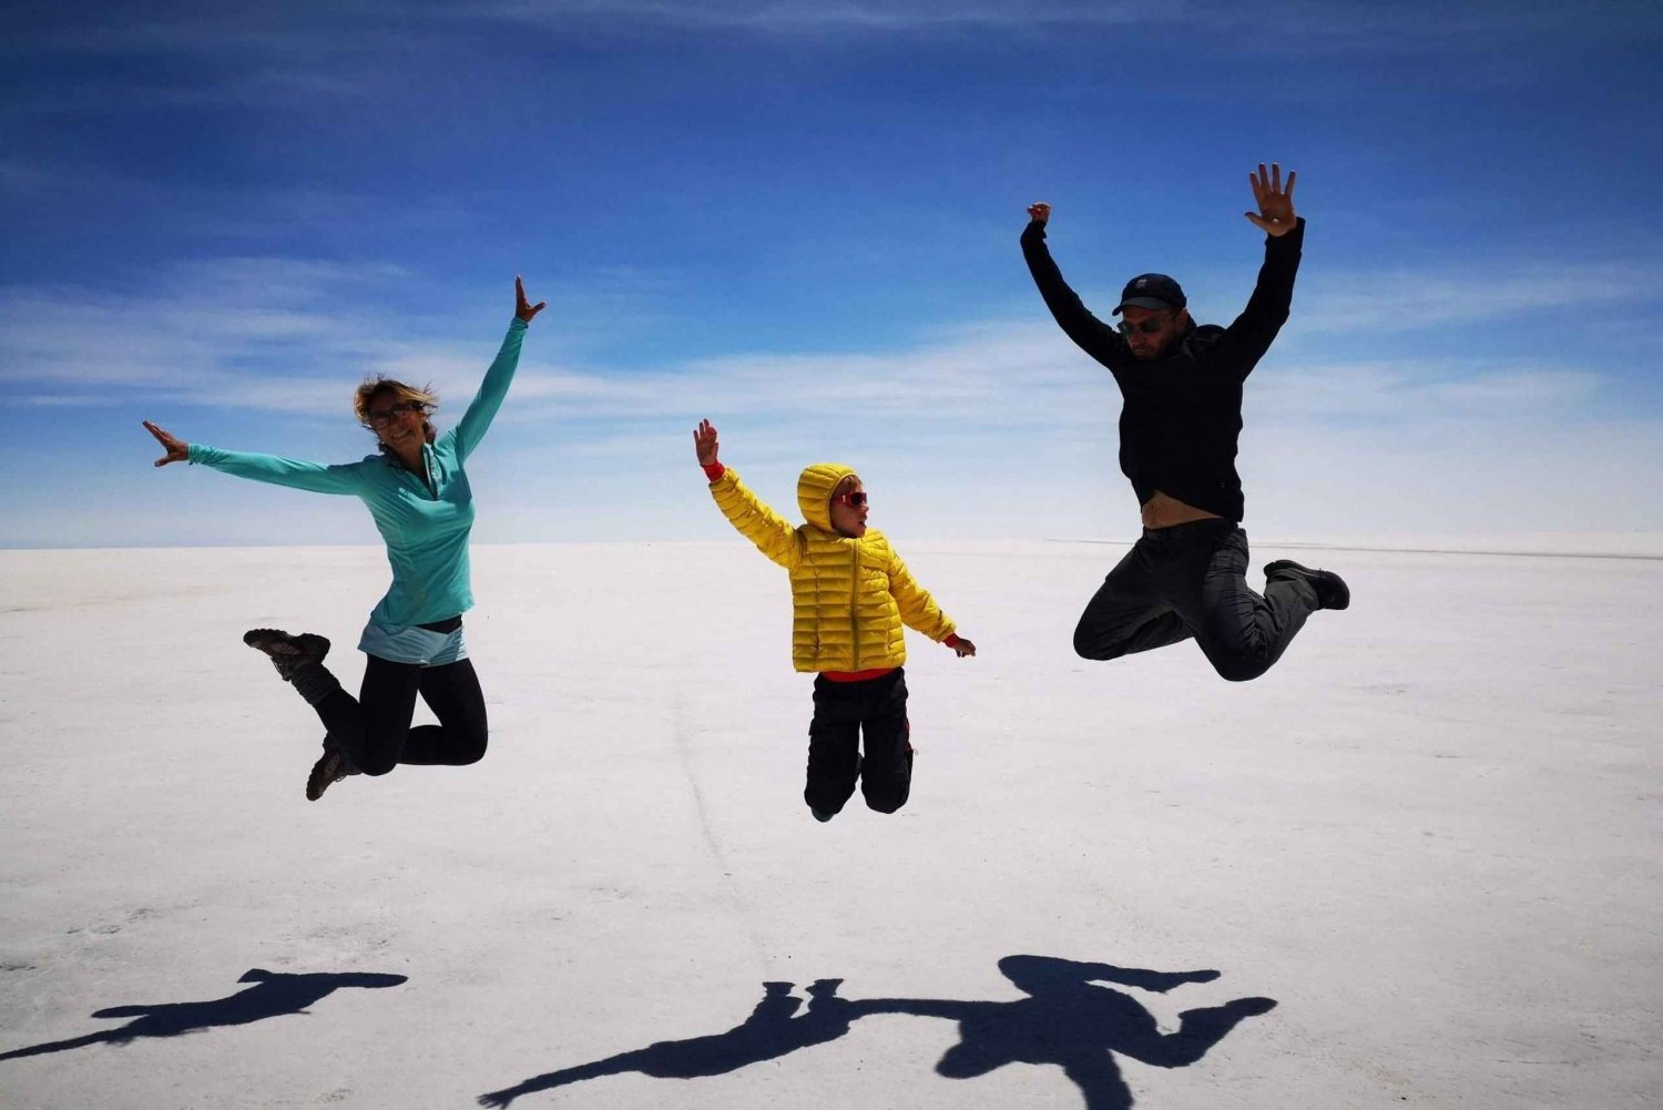
{"label": "elongated middle shadow on the ground below the child", "polygon": [[856,1003],[840,999],[836,994],[841,982],[841,979],[817,979],[805,990],[808,1008],[802,1013],[798,1010],[803,1007],[803,1000],[792,995],[793,984],[765,982],[762,1000],[757,1002],[750,1017],[725,1033],[688,1040],[660,1040],[605,1060],[534,1075],[514,1087],[481,1095],[479,1105],[507,1107],[521,1095],[625,1072],[640,1072],[655,1078],[725,1075],[798,1048],[823,1045],[846,1033],[850,1022],[856,1017]]}

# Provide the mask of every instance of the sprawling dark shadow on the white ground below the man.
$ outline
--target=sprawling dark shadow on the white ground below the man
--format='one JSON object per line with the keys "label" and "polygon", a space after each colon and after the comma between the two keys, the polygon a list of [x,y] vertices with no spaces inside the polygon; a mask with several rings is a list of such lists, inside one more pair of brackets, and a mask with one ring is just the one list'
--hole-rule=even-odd
{"label": "sprawling dark shadow on the white ground below the man", "polygon": [[1088,1110],[1128,1110],[1133,1093],[1116,1053],[1162,1068],[1196,1063],[1247,1017],[1276,1007],[1274,999],[1232,999],[1224,1005],[1184,1010],[1176,1032],[1162,1033],[1134,997],[1099,984],[1167,992],[1204,984],[1216,970],[1152,972],[1083,964],[1048,955],[1008,955],[999,970],[1026,999],[956,1002],[943,999],[871,999],[861,1013],[913,1013],[958,1022],[960,1042],[936,1063],[948,1078],[975,1078],[1006,1063],[1054,1063],[1079,1088]]}

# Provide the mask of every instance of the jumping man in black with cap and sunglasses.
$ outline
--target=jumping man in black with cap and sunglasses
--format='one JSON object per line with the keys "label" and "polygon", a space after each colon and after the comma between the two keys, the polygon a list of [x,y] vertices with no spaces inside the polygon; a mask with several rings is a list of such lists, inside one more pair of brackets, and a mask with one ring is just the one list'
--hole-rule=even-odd
{"label": "jumping man in black with cap and sunglasses", "polygon": [[1247,533],[1236,441],[1242,383],[1287,321],[1305,221],[1294,215],[1294,173],[1249,173],[1266,233],[1264,266],[1229,328],[1196,325],[1177,281],[1133,278],[1109,326],[1086,311],[1046,248],[1051,205],[1028,208],[1023,256],[1058,325],[1121,388],[1121,471],[1142,513],[1142,538],[1109,571],[1074,629],[1086,659],[1118,659],[1196,637],[1212,667],[1241,682],[1271,669],[1317,609],[1344,609],[1339,574],[1279,559],[1261,597],[1247,586]]}

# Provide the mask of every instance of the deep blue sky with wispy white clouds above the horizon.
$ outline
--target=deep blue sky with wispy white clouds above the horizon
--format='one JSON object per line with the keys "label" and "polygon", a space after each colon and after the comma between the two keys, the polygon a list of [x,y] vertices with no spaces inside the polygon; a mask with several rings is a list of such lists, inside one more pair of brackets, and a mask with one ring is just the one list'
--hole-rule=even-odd
{"label": "deep blue sky with wispy white clouds above the horizon", "polygon": [[344,461],[368,373],[466,406],[481,541],[723,539],[690,433],[782,509],[856,466],[896,539],[1136,531],[1106,315],[1251,291],[1299,170],[1294,315],[1249,379],[1259,538],[1663,528],[1650,3],[136,3],[0,35],[5,546],[374,543],[356,503],[156,471]]}

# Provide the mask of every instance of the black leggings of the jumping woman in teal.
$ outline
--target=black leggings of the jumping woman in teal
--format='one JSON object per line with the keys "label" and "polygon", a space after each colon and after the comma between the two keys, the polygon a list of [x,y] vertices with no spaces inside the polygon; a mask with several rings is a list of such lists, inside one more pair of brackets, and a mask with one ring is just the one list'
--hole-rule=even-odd
{"label": "black leggings of the jumping woman in teal", "polygon": [[[314,706],[339,747],[366,776],[399,764],[476,764],[486,756],[486,696],[471,659],[442,667],[366,656],[364,686],[354,699],[336,687]],[[439,724],[411,727],[416,694]]]}

